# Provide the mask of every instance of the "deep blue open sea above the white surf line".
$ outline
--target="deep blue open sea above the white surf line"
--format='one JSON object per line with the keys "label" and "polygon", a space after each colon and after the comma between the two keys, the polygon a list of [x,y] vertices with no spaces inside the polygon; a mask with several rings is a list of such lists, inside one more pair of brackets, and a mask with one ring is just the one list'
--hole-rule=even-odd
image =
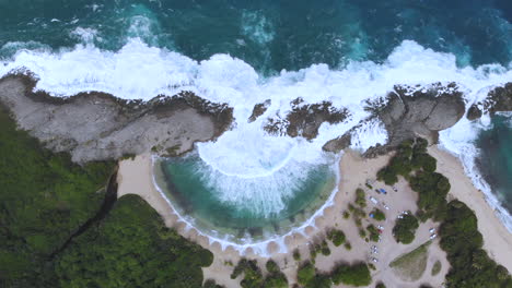
{"label": "deep blue open sea above the white surf line", "polygon": [[1,0],[0,11],[0,47],[70,48],[86,27],[104,49],[138,36],[196,60],[230,53],[258,71],[380,61],[404,39],[451,52],[461,65],[512,59],[507,0]]}

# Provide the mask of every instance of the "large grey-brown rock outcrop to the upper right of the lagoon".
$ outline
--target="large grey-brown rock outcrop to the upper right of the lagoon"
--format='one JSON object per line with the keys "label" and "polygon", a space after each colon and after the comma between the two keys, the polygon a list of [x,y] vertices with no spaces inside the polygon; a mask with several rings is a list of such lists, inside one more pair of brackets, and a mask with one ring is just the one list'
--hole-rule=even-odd
{"label": "large grey-brown rock outcrop to the upper right of the lagoon", "polygon": [[[427,87],[397,85],[386,98],[366,105],[372,116],[364,121],[377,117],[385,125],[388,142],[371,147],[364,153],[365,157],[385,154],[404,140],[417,135],[435,141],[439,131],[454,125],[465,112],[462,93],[454,83],[446,86],[435,83]],[[350,146],[354,129],[357,127],[328,141],[324,151],[337,153]]]}

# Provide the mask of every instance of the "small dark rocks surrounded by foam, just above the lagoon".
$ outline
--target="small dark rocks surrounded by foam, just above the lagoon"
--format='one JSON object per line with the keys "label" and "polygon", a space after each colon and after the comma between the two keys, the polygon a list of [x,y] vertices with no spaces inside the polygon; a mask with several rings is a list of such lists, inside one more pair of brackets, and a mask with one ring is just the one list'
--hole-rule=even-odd
{"label": "small dark rocks surrounded by foam, just above the lagoon", "polygon": [[335,108],[329,101],[304,104],[302,98],[296,98],[291,107],[292,110],[284,118],[278,115],[267,119],[264,129],[271,134],[312,140],[318,135],[318,129],[324,122],[336,124],[349,116],[346,108]]}

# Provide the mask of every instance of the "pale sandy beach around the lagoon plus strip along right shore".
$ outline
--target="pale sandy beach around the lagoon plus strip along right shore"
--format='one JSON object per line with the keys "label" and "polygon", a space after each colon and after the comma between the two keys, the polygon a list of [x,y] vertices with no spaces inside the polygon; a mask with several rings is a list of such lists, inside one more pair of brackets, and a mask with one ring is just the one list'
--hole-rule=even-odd
{"label": "pale sandy beach around the lagoon plus strip along right shore", "polygon": [[[473,187],[470,180],[465,176],[458,160],[435,147],[430,147],[429,153],[438,158],[438,171],[442,172],[451,180],[452,190],[450,195],[464,201],[477,214],[479,229],[485,239],[486,250],[498,263],[509,268],[509,271],[512,271],[512,259],[508,257],[508,253],[499,253],[500,251],[511,251],[512,236],[494,216],[493,211],[485,202],[482,194]],[[442,284],[450,264],[445,259],[445,253],[437,244],[439,240],[434,241],[429,248],[428,266],[420,279],[412,283],[403,280],[388,267],[388,264],[394,259],[428,241],[430,236],[428,230],[439,225],[430,220],[421,224],[417,230],[416,239],[411,244],[404,245],[395,242],[391,232],[395,218],[402,211],[416,212],[416,192],[411,191],[407,182],[403,179],[396,185],[398,192],[393,192],[392,188],[383,183],[375,183],[376,187],[391,191],[387,195],[377,194],[364,187],[365,181],[368,179],[374,179],[376,171],[387,164],[389,157],[391,156],[387,155],[373,159],[364,159],[354,152],[346,152],[339,164],[341,180],[334,195],[334,204],[325,208],[322,216],[315,218],[314,226],[306,227],[302,233],[296,232],[284,238],[284,243],[289,251],[288,253],[279,253],[277,243],[269,242],[267,252],[279,264],[281,271],[289,279],[290,285],[295,283],[295,274],[299,265],[310,257],[310,245],[315,241],[325,239],[325,232],[329,228],[341,229],[346,233],[347,240],[351,243],[352,249],[347,250],[344,245],[336,248],[329,242],[330,255],[324,256],[318,254],[316,256],[315,265],[321,272],[330,272],[335,263],[338,262],[370,262],[372,257],[379,257],[379,263],[374,263],[377,269],[372,272],[372,285],[375,285],[380,280],[383,280],[388,287],[396,288],[417,287],[422,283],[429,283],[433,285],[433,287],[439,287]],[[240,286],[242,276],[236,279],[231,279],[230,274],[234,265],[236,265],[237,261],[242,257],[241,253],[231,247],[222,250],[219,243],[210,243],[207,237],[200,236],[193,227],[187,227],[186,224],[179,220],[178,216],[153,184],[150,154],[139,155],[135,159],[121,160],[119,163],[118,183],[119,197],[125,194],[140,195],[163,217],[167,227],[177,229],[184,237],[212,251],[214,254],[213,264],[210,267],[203,268],[205,279],[212,278],[218,284],[224,285],[225,287]],[[374,207],[379,207],[386,213],[387,219],[384,223],[376,223],[366,217],[363,219],[362,224],[363,227],[369,224],[381,224],[384,226],[382,241],[380,243],[365,242],[364,239],[359,236],[359,228],[352,217],[349,219],[342,217],[342,212],[347,211],[348,204],[356,199],[354,191],[357,188],[364,189],[366,197],[371,195],[379,201],[379,204],[368,202],[368,207],[365,208],[366,213]],[[387,205],[389,209],[385,211],[383,208],[384,205]],[[380,250],[379,255],[373,255],[370,252],[370,248],[373,244],[377,244]],[[300,262],[294,261],[292,257],[291,252],[295,249],[301,253]],[[261,267],[265,266],[268,260],[267,257],[256,255],[252,249],[246,250],[244,256],[257,260]],[[442,263],[442,269],[441,273],[434,277],[431,276],[430,269],[437,261]]]}

